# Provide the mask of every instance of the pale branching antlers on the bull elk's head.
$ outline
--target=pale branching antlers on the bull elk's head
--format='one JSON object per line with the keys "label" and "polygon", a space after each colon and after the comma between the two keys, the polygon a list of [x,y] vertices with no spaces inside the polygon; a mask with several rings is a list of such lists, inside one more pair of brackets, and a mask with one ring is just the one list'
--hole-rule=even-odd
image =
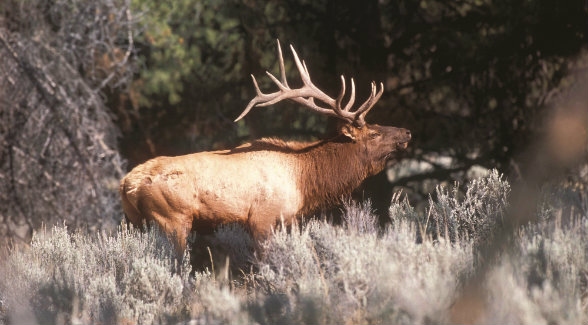
{"label": "pale branching antlers on the bull elk's head", "polygon": [[[341,107],[343,96],[345,95],[345,77],[341,75],[341,91],[339,92],[339,96],[337,96],[335,99],[329,97],[312,83],[310,80],[310,74],[306,68],[306,63],[304,61],[300,62],[298,54],[292,45],[290,45],[290,49],[294,55],[294,61],[296,62],[296,67],[298,67],[298,72],[300,73],[300,77],[302,78],[304,85],[298,89],[291,89],[290,86],[288,86],[288,81],[286,80],[286,70],[284,69],[284,59],[282,57],[282,48],[280,46],[280,41],[278,40],[278,56],[280,59],[280,76],[282,80],[278,80],[268,71],[265,73],[278,86],[279,90],[271,94],[262,93],[259,89],[259,86],[257,85],[257,80],[255,80],[255,77],[251,75],[257,96],[255,96],[255,98],[249,102],[243,113],[237,117],[235,122],[239,121],[245,115],[247,115],[247,113],[249,113],[249,111],[255,106],[265,107],[273,105],[284,99],[291,99],[297,103],[303,104],[313,111],[319,112],[320,114],[334,116],[343,119],[348,123],[354,124],[357,127],[363,127],[365,125],[366,114],[372,109],[374,104],[378,102],[382,96],[382,93],[384,92],[384,84],[380,82],[380,90],[376,92],[376,83],[372,81],[372,92],[370,96],[363,104],[361,104],[361,106],[359,106],[359,108],[352,111],[351,106],[353,106],[353,103],[355,103],[355,82],[353,81],[353,78],[351,78],[351,96],[349,97],[347,105],[345,105],[345,107]],[[327,104],[329,108],[324,108],[317,105],[314,102],[315,99],[318,99],[319,101]]]}

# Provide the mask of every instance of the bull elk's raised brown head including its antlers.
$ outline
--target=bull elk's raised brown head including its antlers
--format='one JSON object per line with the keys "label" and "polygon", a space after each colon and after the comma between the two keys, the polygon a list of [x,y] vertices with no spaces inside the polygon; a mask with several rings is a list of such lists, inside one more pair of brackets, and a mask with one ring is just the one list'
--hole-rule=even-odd
{"label": "bull elk's raised brown head including its antlers", "polygon": [[[362,158],[365,159],[365,162],[373,164],[375,169],[383,169],[385,162],[393,156],[394,152],[406,149],[411,139],[409,130],[392,126],[367,124],[365,122],[365,116],[378,102],[384,92],[383,83],[380,82],[379,87],[376,87],[376,83],[372,81],[370,96],[357,109],[352,109],[355,103],[355,82],[351,78],[351,94],[347,103],[343,106],[343,98],[346,92],[345,77],[341,75],[341,90],[339,95],[336,98],[331,98],[314,85],[310,79],[306,63],[299,59],[296,50],[290,45],[296,67],[303,82],[302,87],[292,89],[286,80],[280,41],[278,40],[277,43],[281,80],[278,80],[268,71],[266,71],[266,74],[278,86],[278,91],[264,94],[259,89],[255,77],[251,75],[257,95],[249,102],[241,115],[235,119],[235,122],[247,115],[255,106],[265,107],[285,99],[290,99],[320,114],[338,118],[341,121],[338,125],[339,135],[344,137],[346,141],[360,146],[360,152],[364,155]],[[315,100],[318,100],[327,107],[317,104]]]}

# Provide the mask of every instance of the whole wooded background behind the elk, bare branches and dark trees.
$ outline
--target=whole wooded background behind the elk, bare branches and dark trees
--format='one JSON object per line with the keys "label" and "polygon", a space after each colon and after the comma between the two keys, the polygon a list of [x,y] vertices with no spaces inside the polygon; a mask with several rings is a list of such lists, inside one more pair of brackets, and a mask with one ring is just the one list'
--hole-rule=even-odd
{"label": "whole wooded background behind the elk, bare branches and dark trees", "polygon": [[[254,96],[250,73],[273,89],[264,71],[277,72],[276,38],[284,50],[296,47],[328,94],[338,92],[339,74],[355,78],[358,99],[370,81],[384,82],[367,120],[408,128],[413,141],[404,159],[358,190],[381,213],[400,186],[418,203],[435,184],[488,168],[524,180],[524,153],[544,138],[554,103],[579,93],[580,110],[588,110],[587,6],[5,1],[0,235],[25,240],[59,220],[112,227],[121,217],[118,179],[151,157],[332,132],[333,121],[290,103],[233,122]],[[585,147],[581,156],[585,163]]]}

